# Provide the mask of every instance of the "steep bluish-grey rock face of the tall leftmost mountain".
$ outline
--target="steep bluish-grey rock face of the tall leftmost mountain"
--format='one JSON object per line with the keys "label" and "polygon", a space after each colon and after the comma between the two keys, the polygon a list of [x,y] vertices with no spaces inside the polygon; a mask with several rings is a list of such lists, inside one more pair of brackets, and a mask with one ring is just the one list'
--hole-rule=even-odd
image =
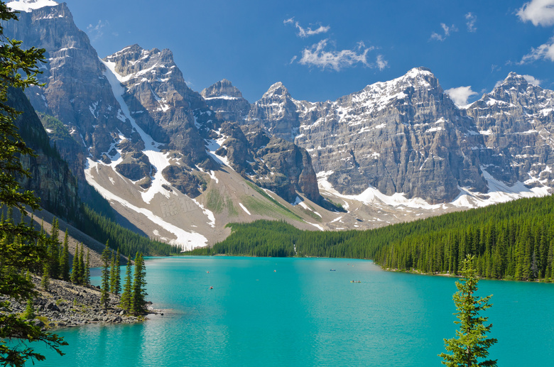
{"label": "steep bluish-grey rock face of the tall leftmost mountain", "polygon": [[[85,182],[87,155],[102,158],[114,141],[114,131],[131,135],[129,124],[121,121],[96,50],[75,26],[65,3],[21,11],[18,21],[4,24],[4,33],[24,45],[46,50],[48,62],[38,78],[45,87],[28,88],[26,95],[36,111],[55,116],[66,126],[76,144],[60,142],[60,152],[80,182]],[[81,190],[85,187],[80,185]]]}

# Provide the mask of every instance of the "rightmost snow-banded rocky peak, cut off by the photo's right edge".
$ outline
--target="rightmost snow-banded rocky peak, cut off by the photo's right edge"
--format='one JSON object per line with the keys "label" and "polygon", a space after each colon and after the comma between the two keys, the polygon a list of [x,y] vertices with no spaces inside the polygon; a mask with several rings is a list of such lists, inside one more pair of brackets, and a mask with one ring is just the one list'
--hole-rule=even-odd
{"label": "rightmost snow-banded rocky peak, cut off by the photo's right edge", "polygon": [[484,138],[480,160],[499,180],[552,187],[554,92],[511,72],[467,108]]}

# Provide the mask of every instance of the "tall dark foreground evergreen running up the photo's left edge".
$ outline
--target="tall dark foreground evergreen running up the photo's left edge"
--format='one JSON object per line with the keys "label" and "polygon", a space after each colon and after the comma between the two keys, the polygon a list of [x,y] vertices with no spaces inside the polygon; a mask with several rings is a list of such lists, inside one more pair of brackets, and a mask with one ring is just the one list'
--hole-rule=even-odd
{"label": "tall dark foreground evergreen running up the photo's left edge", "polygon": [[[21,41],[4,35],[4,22],[16,21],[17,12],[11,11],[0,1],[0,207],[16,208],[24,217],[26,210],[39,209],[38,198],[33,192],[23,190],[16,177],[31,177],[23,168],[22,155],[33,155],[17,133],[13,124],[18,111],[6,104],[11,87],[24,89],[38,84],[38,62],[43,62],[45,50],[21,47]],[[11,297],[18,301],[28,300],[34,293],[33,283],[25,276],[27,270],[40,269],[48,262],[48,253],[37,246],[40,234],[33,226],[21,221],[13,224],[0,222],[0,365],[23,366],[29,359],[42,361],[45,357],[28,347],[25,341],[43,341],[58,354],[60,346],[67,345],[55,334],[43,332],[39,327],[11,314]],[[9,342],[12,339],[21,341]]]}

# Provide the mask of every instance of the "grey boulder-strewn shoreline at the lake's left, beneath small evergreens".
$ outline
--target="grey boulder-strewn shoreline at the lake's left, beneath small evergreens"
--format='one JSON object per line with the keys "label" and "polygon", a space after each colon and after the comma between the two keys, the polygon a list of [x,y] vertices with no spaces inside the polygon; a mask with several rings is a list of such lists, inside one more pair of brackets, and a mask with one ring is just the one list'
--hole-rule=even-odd
{"label": "grey boulder-strewn shoreline at the lake's left, beneath small evergreens", "polygon": [[[121,297],[109,295],[109,306],[104,310],[100,303],[99,287],[83,287],[63,280],[50,280],[48,290],[40,287],[40,278],[33,277],[37,295],[33,300],[34,324],[43,330],[78,327],[86,324],[132,324],[147,319],[146,315],[133,316],[119,308]],[[26,302],[11,300],[11,313],[23,314]],[[158,314],[148,307],[148,314]]]}

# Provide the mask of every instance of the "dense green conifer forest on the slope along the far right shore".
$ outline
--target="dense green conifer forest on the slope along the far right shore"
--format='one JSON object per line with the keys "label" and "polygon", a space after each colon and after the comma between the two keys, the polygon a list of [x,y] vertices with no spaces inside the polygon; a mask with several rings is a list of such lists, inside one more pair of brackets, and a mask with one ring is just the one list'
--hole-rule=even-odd
{"label": "dense green conifer forest on the slope along the far right shore", "polygon": [[368,258],[384,268],[457,274],[472,253],[482,277],[550,279],[553,209],[552,196],[519,199],[369,231],[300,231],[256,221],[232,224],[225,241],[192,254]]}

